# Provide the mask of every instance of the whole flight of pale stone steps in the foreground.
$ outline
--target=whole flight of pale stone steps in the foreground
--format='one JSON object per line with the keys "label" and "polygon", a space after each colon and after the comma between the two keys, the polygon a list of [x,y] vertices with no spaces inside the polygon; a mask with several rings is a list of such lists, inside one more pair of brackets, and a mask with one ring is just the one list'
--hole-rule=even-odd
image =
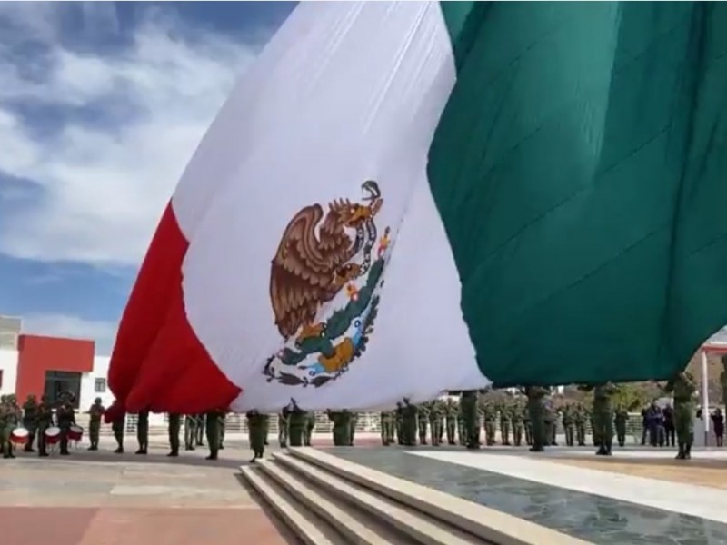
{"label": "whole flight of pale stone steps in the foreground", "polygon": [[312,448],[240,471],[309,545],[584,545],[554,530]]}

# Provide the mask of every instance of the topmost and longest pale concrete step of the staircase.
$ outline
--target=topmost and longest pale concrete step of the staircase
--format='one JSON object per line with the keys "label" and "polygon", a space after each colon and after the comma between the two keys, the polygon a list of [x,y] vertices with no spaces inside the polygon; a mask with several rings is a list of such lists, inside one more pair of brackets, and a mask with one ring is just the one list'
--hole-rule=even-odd
{"label": "topmost and longest pale concrete step of the staircase", "polygon": [[[492,545],[588,545],[588,541],[579,540],[563,534],[556,530],[544,528],[529,522],[528,520],[519,519],[503,513],[502,511],[493,510],[472,501],[446,494],[439,490],[416,484],[412,481],[405,481],[393,475],[375,471],[371,468],[364,467],[351,461],[328,454],[325,451],[314,449],[311,447],[297,447],[289,449],[288,455],[295,461],[304,465],[313,465],[315,469],[329,474],[333,479],[338,478],[339,482],[346,484],[354,484],[361,489],[369,492],[374,499],[384,501],[393,501],[391,506],[399,504],[400,508],[404,507],[408,510],[389,511],[396,512],[402,520],[414,522],[412,517],[423,519],[429,524],[439,526],[442,530],[452,531],[453,538],[463,541],[446,541],[447,545],[454,543],[490,543]],[[287,460],[279,457],[281,463]],[[414,461],[413,461],[414,462]],[[287,467],[293,467],[288,464]],[[301,465],[295,466],[296,468]],[[309,471],[309,474],[311,472]],[[316,474],[314,478],[319,478],[320,474]],[[332,487],[331,481],[324,483],[325,486]],[[344,489],[339,486],[340,493],[344,493]],[[349,491],[349,490],[346,490]],[[360,497],[360,496],[359,496]],[[353,500],[356,500],[355,498]],[[359,503],[362,510],[373,510],[379,508],[382,503],[373,503],[369,497],[365,503]],[[378,510],[378,509],[376,509]],[[393,515],[390,515],[392,520]],[[416,520],[417,523],[420,520]],[[406,526],[400,527],[404,530]],[[431,531],[431,526],[427,527]],[[456,529],[456,533],[452,529]],[[413,533],[409,534],[414,536]],[[441,543],[436,541],[435,533],[429,533],[430,540],[420,540],[421,534],[416,534],[416,539],[420,543]],[[470,540],[470,541],[467,541]]]}

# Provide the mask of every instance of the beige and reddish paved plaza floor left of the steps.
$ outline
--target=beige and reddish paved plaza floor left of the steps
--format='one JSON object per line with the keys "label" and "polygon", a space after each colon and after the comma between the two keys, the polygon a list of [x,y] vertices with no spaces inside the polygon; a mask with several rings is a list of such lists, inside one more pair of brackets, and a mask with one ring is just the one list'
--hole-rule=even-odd
{"label": "beige and reddish paved plaza floor left of the steps", "polygon": [[284,545],[296,541],[236,476],[249,451],[231,445],[219,461],[206,449],[167,458],[73,451],[0,460],[0,527],[12,545]]}

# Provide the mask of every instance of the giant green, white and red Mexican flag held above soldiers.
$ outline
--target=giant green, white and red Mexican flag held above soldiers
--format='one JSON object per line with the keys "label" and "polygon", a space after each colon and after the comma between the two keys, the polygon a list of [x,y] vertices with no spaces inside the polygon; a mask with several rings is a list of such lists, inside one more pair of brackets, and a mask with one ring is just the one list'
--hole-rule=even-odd
{"label": "giant green, white and red Mexican flag held above soldiers", "polygon": [[727,5],[304,3],[154,235],[127,411],[662,379],[727,323]]}

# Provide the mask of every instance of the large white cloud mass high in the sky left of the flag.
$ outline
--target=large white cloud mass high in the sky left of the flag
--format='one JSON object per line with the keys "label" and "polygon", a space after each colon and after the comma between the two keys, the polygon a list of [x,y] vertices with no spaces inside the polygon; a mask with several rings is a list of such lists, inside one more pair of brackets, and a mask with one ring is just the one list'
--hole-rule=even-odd
{"label": "large white cloud mass high in the sky left of the flag", "polygon": [[[41,191],[0,218],[0,252],[136,265],[185,163],[259,45],[149,12],[127,48],[81,53],[58,42],[59,7],[10,4],[0,4],[0,18],[15,28],[0,32],[0,171]],[[84,9],[86,26],[117,28],[107,6]],[[16,53],[29,37],[46,45],[43,58]],[[64,108],[75,121],[39,131],[18,104]],[[78,120],[99,111],[117,121]]]}

